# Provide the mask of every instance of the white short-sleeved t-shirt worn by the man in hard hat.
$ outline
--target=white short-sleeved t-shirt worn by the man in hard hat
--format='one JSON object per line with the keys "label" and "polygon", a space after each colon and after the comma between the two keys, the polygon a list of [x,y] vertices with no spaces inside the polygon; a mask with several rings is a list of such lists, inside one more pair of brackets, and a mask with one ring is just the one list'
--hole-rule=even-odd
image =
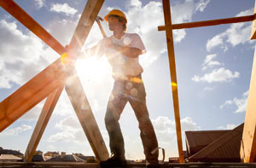
{"label": "white short-sleeved t-shirt worn by the man in hard hat", "polygon": [[[125,33],[122,38],[110,37],[111,41],[120,46],[133,47],[141,49],[143,53],[146,52],[142,39],[137,33]],[[108,61],[112,67],[112,74],[114,79],[124,78],[126,76],[137,76],[143,72],[143,67],[139,64],[139,58],[131,58],[122,55],[115,49],[109,49],[104,44],[104,40],[98,43],[100,47],[99,52],[106,54]]]}

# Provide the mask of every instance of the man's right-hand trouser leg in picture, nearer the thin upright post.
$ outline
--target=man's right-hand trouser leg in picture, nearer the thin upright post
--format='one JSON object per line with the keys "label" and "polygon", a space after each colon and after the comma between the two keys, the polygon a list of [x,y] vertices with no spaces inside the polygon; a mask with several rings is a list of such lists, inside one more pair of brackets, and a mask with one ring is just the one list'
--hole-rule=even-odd
{"label": "man's right-hand trouser leg in picture, nearer the thin upright post", "polygon": [[158,142],[154,133],[154,127],[149,119],[144,84],[142,82],[131,84],[132,88],[128,96],[128,101],[131,103],[131,107],[133,108],[139,122],[144,154],[146,155],[148,162],[158,163],[158,151],[155,154],[151,154],[154,148],[158,148]]}

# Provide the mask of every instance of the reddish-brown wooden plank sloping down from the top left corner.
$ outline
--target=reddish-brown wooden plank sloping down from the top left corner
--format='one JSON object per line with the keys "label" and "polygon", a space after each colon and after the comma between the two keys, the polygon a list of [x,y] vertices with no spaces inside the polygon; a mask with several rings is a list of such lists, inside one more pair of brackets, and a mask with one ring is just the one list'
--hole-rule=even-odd
{"label": "reddish-brown wooden plank sloping down from the top left corner", "polygon": [[42,26],[38,24],[37,21],[33,20],[32,17],[27,14],[20,6],[13,0],[1,0],[0,5],[9,14],[12,14],[16,20],[19,20],[24,26],[26,26],[30,31],[38,36],[44,43],[47,43],[49,47],[54,49],[59,55],[65,52],[65,49],[61,46],[55,38],[53,38],[49,32],[44,30]]}

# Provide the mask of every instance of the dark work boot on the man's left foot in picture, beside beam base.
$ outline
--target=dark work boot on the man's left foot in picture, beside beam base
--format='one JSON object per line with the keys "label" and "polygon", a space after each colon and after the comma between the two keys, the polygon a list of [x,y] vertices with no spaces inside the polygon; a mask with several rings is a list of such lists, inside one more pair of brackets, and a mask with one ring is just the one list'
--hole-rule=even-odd
{"label": "dark work boot on the man's left foot in picture, beside beam base", "polygon": [[119,157],[113,155],[111,158],[106,161],[101,161],[101,167],[125,167],[126,160],[125,157]]}

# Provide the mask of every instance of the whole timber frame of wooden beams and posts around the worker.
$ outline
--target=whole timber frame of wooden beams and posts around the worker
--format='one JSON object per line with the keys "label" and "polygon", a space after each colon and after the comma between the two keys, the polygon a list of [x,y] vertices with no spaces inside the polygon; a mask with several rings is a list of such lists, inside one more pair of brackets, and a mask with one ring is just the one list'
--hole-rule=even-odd
{"label": "whole timber frame of wooden beams and posts around the worker", "polygon": [[[159,26],[159,31],[166,31],[166,43],[169,57],[169,66],[172,80],[172,99],[174,107],[174,115],[177,131],[177,147],[179,154],[179,162],[183,163],[183,145],[180,125],[180,114],[177,94],[177,74],[175,65],[174,43],[172,30],[194,28],[200,26],[217,26],[220,24],[230,24],[245,21],[253,21],[252,39],[256,38],[256,2],[254,14],[227,18],[221,20],[206,20],[190,23],[172,24],[170,0],[163,1],[163,11],[165,17],[165,26]],[[76,60],[78,51],[82,49],[84,42],[90,32],[90,28],[96,20],[96,16],[104,0],[88,0],[84,7],[84,12],[81,15],[79,24],[73,34],[73,38],[69,43],[69,48],[72,51],[72,62],[63,65],[61,58],[53,62],[49,67],[46,67],[42,72],[39,72],[34,78],[16,90],[0,102],[0,132],[13,124],[23,114],[32,107],[36,106],[44,98],[44,107],[39,116],[38,123],[32,133],[30,142],[27,145],[25,153],[25,161],[31,162],[32,156],[38,147],[38,143],[44,133],[44,129],[48,124],[49,118],[54,111],[56,102],[61,96],[62,90],[65,88],[67,95],[72,102],[75,113],[79,118],[85,135],[90,142],[90,147],[93,149],[98,161],[106,160],[109,157],[108,149],[102,139],[102,134],[96,124],[96,119],[90,109],[90,104],[85,96],[82,84],[79,80],[77,72],[73,67],[73,62]],[[38,36],[50,48],[54,49],[59,55],[65,53],[65,49],[61,43],[55,40],[49,32],[45,31],[29,14],[21,9],[13,0],[0,0],[0,6],[21,24],[26,26],[30,31]],[[67,82],[72,78],[72,83]],[[68,80],[70,81],[70,80]],[[247,113],[245,118],[244,130],[241,139],[241,161],[253,162],[256,154],[256,48],[253,61],[253,70],[251,76],[251,84],[247,101]],[[84,109],[84,107],[87,107]]]}

